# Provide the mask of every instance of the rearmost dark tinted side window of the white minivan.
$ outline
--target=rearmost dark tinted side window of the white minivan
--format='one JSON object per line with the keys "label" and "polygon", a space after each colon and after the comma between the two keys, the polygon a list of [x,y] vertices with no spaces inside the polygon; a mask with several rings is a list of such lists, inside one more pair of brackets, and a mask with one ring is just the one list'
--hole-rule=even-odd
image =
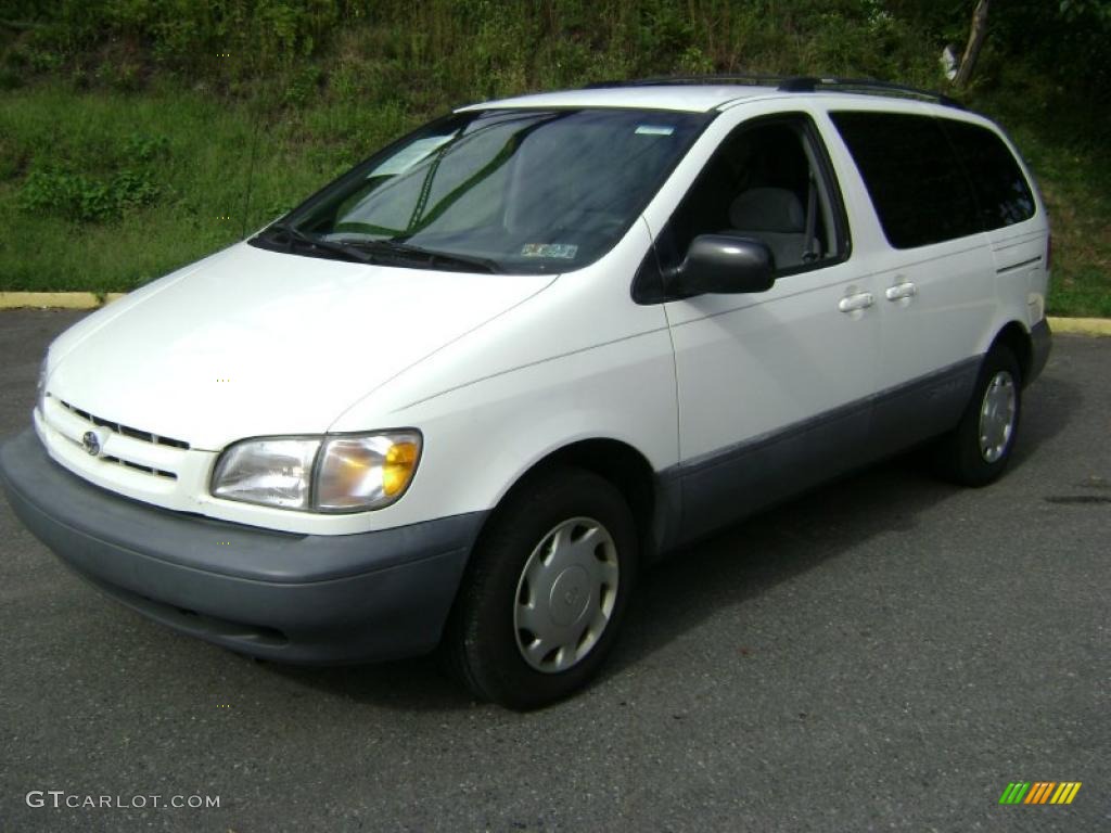
{"label": "rearmost dark tinted side window of the white minivan", "polygon": [[1020,223],[1034,215],[1034,198],[1022,169],[1003,140],[987,128],[939,119],[964,163],[985,231]]}

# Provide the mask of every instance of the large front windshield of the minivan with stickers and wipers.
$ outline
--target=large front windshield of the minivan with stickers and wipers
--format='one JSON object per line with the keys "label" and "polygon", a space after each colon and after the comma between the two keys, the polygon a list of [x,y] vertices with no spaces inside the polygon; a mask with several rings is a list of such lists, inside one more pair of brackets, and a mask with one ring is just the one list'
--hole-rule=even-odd
{"label": "large front windshield of the minivan with stickers and wipers", "polygon": [[709,121],[644,110],[483,110],[371,157],[251,242],[316,257],[565,272],[609,251]]}

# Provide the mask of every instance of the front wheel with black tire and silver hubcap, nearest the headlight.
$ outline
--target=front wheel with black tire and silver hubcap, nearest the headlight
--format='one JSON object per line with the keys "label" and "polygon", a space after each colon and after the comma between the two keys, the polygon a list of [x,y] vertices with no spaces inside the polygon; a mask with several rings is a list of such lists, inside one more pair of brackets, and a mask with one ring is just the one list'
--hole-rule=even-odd
{"label": "front wheel with black tire and silver hubcap, nearest the headlight", "polygon": [[581,689],[613,645],[637,530],[607,480],[560,468],[522,482],[480,536],[444,635],[480,699],[536,709]]}

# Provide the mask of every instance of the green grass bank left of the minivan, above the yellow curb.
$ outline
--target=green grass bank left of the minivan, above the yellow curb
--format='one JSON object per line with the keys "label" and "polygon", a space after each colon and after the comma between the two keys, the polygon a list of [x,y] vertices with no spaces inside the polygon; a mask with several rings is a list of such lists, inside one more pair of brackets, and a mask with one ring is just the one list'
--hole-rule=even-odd
{"label": "green grass bank left of the minivan, above the yellow curb", "polygon": [[[338,118],[319,109],[273,124],[248,104],[176,89],[4,93],[0,290],[128,291],[241,239],[356,161],[337,145]],[[387,112],[366,127],[372,147],[408,124]],[[146,161],[119,150],[144,143],[162,147]],[[29,208],[34,171],[80,172],[86,188],[108,190],[130,171],[157,194],[116,217],[81,219],[68,203]]]}

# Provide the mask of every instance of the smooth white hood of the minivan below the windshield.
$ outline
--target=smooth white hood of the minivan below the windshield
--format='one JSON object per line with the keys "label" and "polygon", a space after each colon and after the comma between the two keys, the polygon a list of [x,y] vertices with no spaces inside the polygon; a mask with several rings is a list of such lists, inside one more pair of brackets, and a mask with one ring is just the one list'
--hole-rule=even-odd
{"label": "smooth white hood of the minivan below the windshield", "polygon": [[551,281],[242,243],[63,333],[51,347],[48,390],[96,416],[200,449],[321,433],[357,400]]}

